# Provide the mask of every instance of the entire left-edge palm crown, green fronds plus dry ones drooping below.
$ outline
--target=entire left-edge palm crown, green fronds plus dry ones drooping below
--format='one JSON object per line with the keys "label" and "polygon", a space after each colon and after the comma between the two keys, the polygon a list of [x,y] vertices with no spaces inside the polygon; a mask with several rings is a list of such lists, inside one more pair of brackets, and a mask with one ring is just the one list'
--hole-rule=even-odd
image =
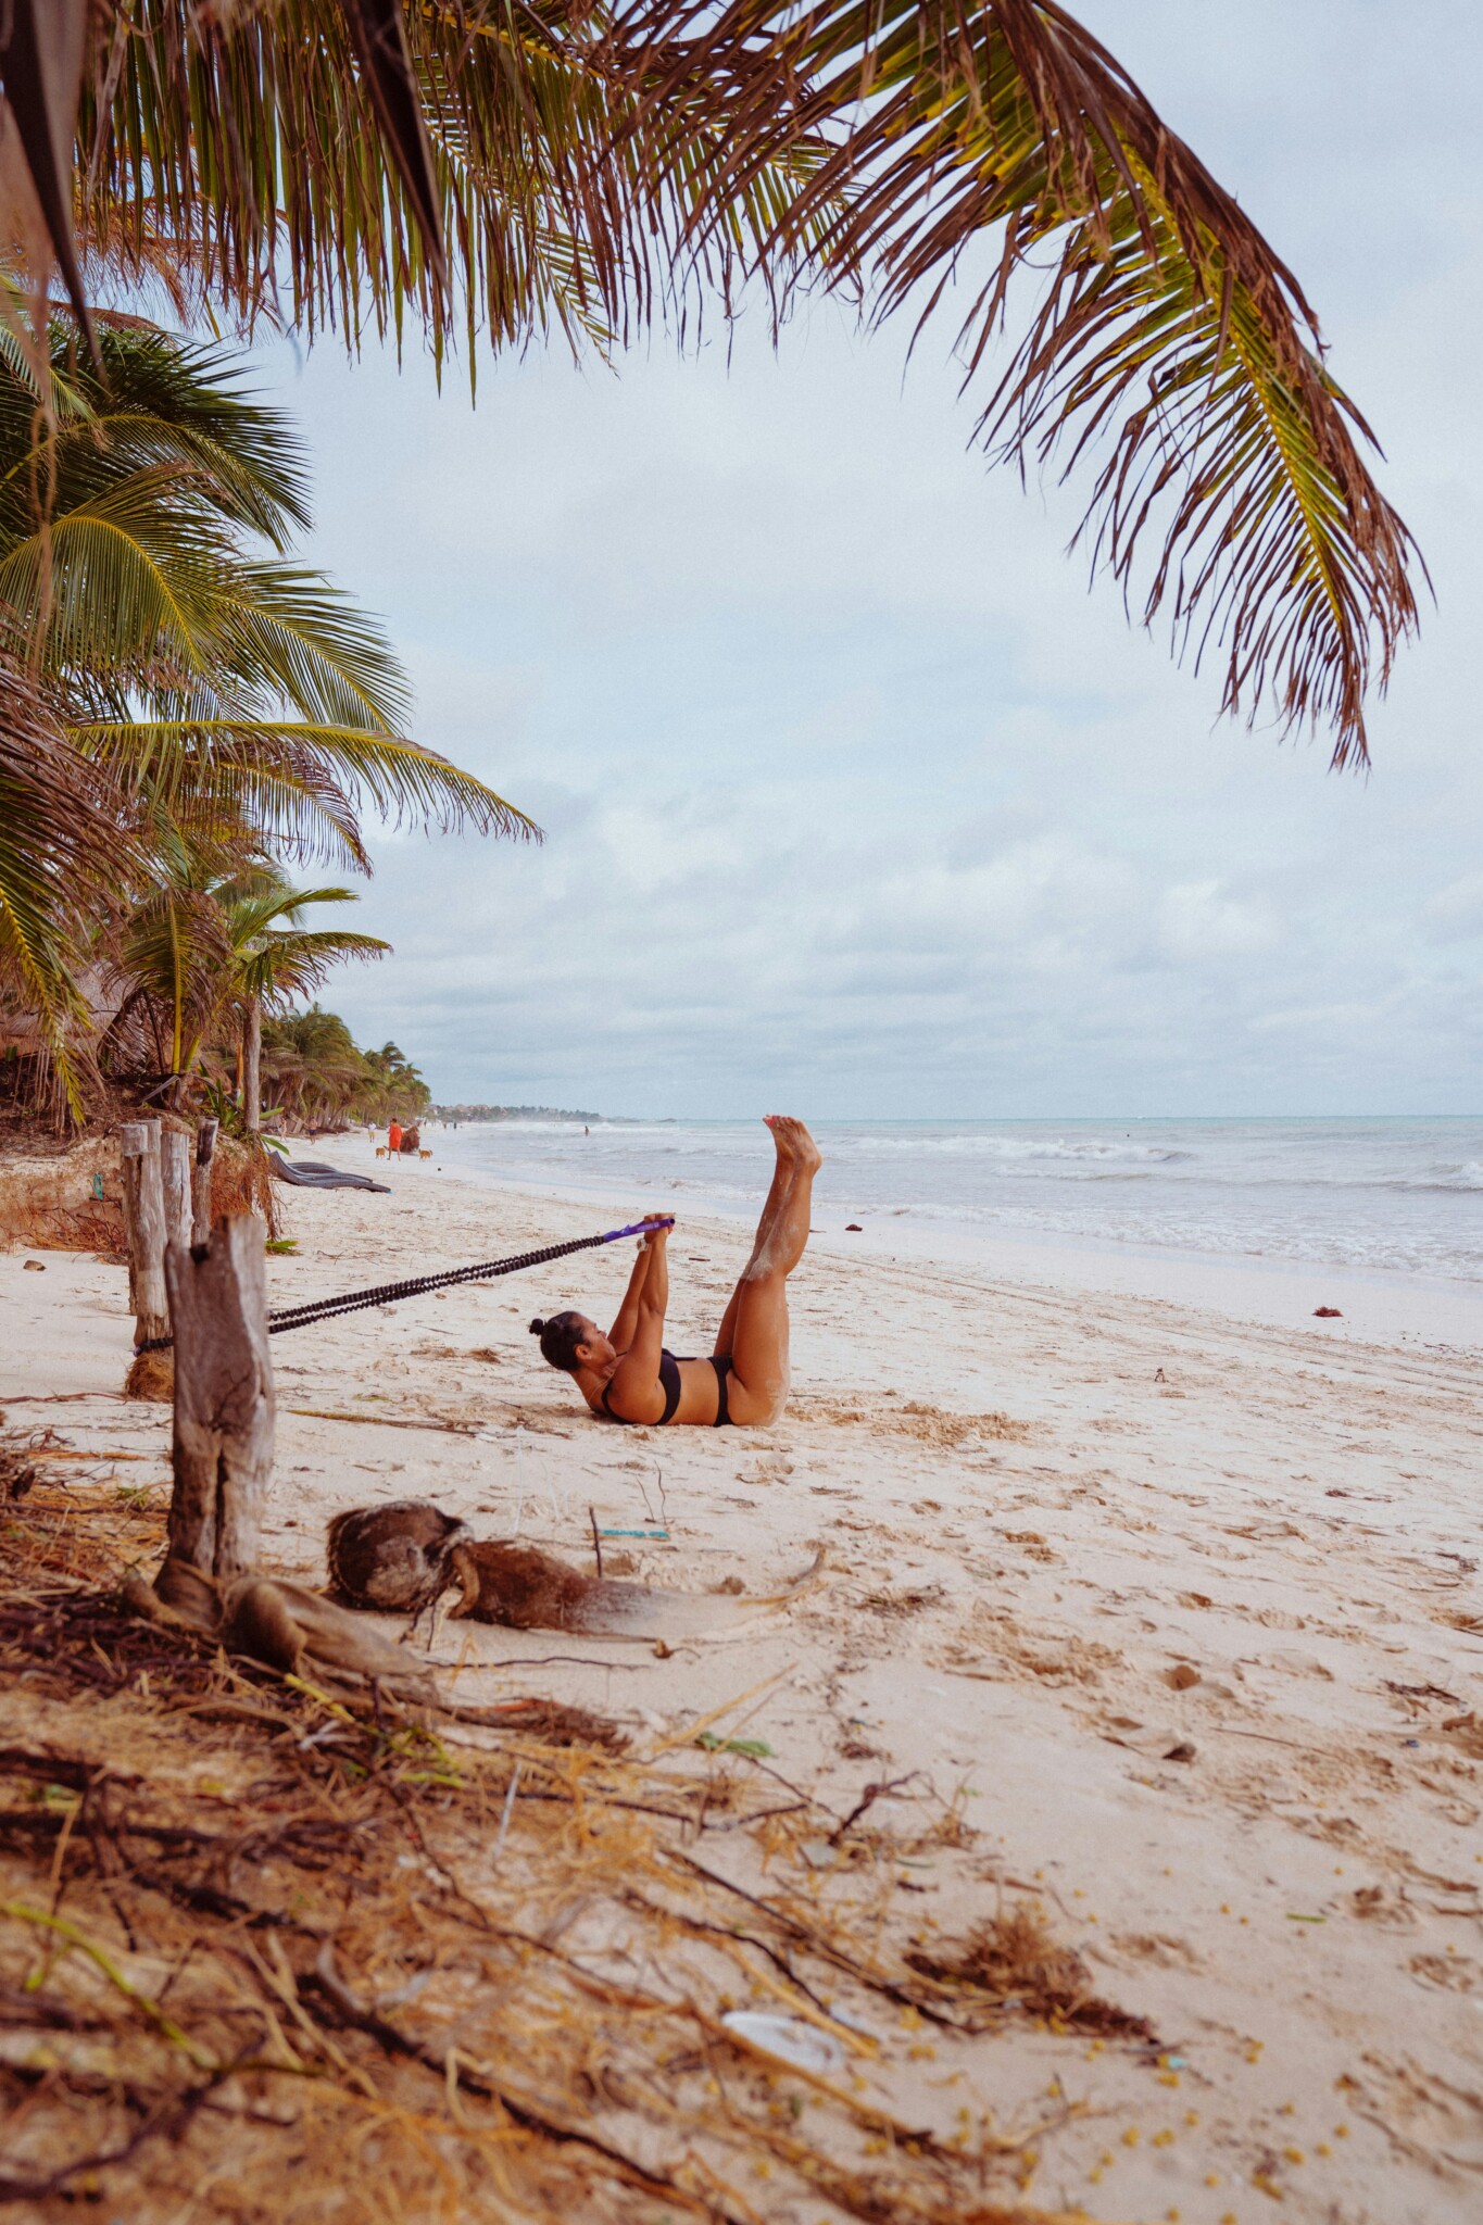
{"label": "entire left-edge palm crown, green fronds plus dry ones drooping below", "polygon": [[193,961],[213,979],[213,877],[265,846],[365,872],[367,801],[536,830],[405,736],[382,630],[287,561],[309,521],[302,456],[218,349],[104,329],[93,367],[60,323],[49,347],[38,374],[0,329],[0,690],[24,705],[0,752],[0,990],[78,1112],[80,921],[131,903],[140,981],[180,977],[156,1044],[180,1072],[209,1017],[189,1021],[205,988],[185,983]]}

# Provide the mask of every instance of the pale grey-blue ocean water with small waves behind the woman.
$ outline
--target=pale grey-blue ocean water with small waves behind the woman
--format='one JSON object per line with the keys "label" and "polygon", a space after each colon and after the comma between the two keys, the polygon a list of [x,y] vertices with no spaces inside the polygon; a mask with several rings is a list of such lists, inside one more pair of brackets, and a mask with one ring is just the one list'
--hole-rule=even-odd
{"label": "pale grey-blue ocean water with small waves behind the woman", "polygon": [[[814,1222],[954,1242],[1136,1246],[1483,1284],[1483,1117],[820,1121]],[[756,1121],[565,1121],[434,1130],[467,1173],[752,1217]]]}

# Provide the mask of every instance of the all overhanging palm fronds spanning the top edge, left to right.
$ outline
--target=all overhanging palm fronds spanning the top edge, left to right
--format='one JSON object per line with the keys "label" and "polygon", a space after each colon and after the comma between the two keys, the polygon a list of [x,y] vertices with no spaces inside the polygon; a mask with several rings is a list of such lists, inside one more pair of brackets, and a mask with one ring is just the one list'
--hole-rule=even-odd
{"label": "all overhanging palm fronds spanning the top edge, left to right", "polygon": [[1230,712],[1323,721],[1363,761],[1416,623],[1372,436],[1294,274],[1061,0],[93,13],[82,60],[89,0],[11,0],[53,58],[24,149],[73,291],[49,151],[73,107],[84,243],[129,278],[176,240],[245,327],[280,303],[351,347],[411,323],[474,369],[480,332],[691,329],[749,278],[778,316],[843,289],[869,320],[965,278],[965,380],[1032,305],[981,405],[992,454],[1065,456],[1094,570],[1221,650]]}

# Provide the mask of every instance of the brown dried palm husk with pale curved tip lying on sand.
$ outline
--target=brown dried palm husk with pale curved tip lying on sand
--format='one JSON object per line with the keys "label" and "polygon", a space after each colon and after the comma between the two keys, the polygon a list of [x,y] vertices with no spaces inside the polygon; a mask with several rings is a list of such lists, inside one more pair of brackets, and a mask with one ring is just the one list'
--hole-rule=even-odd
{"label": "brown dried palm husk with pale curved tip lying on sand", "polygon": [[663,1591],[611,1575],[583,1575],[527,1544],[460,1542],[451,1575],[462,1598],[454,1618],[502,1622],[514,1631],[585,1631],[591,1638],[705,1638],[783,1606],[816,1575],[818,1553],[783,1591],[767,1598]]}

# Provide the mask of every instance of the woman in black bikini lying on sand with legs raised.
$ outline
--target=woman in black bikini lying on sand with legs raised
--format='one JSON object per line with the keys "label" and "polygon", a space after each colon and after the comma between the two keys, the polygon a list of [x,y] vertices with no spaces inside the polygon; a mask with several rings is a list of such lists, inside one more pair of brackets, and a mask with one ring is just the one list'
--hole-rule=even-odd
{"label": "woman in black bikini lying on sand with legs raised", "polygon": [[629,1288],[605,1337],[585,1313],[531,1322],[540,1355],[576,1375],[576,1386],[605,1422],[629,1426],[694,1422],[720,1428],[740,1422],[765,1428],[787,1400],[787,1277],[809,1242],[809,1199],[820,1166],[818,1144],[800,1119],[769,1112],[778,1150],[756,1244],[731,1293],[709,1359],[676,1359],[665,1351],[669,1306],[667,1228],[640,1237]]}

